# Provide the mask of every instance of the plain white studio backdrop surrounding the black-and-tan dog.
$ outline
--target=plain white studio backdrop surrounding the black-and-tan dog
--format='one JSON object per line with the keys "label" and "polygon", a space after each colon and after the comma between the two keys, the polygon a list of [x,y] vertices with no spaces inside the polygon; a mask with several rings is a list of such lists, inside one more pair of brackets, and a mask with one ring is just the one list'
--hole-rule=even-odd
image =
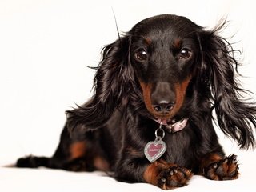
{"label": "plain white studio backdrop surrounding the black-and-tan dog", "polygon": [[[242,50],[242,55],[236,55],[243,63],[239,69],[245,78],[240,80],[246,89],[256,93],[255,8],[254,1],[246,0],[1,0],[0,166],[28,154],[54,153],[66,119],[65,110],[90,98],[95,71],[86,66],[97,66],[102,46],[118,38],[112,9],[120,32],[155,14],[183,15],[207,29],[227,17],[230,24],[222,36],[234,43],[235,49]],[[255,95],[251,96],[255,100]],[[234,142],[218,133],[226,153],[238,154],[240,180],[209,182],[198,178],[192,184],[200,185],[202,191],[215,190],[213,186],[221,186],[220,191],[234,191],[240,186],[252,189],[255,151],[238,150]],[[1,171],[10,178],[1,180],[6,178]],[[0,190],[1,183],[8,186],[14,182],[11,178],[23,174],[20,170],[9,171],[0,169]],[[33,170],[28,175],[37,173]],[[50,177],[55,173],[50,171]]]}

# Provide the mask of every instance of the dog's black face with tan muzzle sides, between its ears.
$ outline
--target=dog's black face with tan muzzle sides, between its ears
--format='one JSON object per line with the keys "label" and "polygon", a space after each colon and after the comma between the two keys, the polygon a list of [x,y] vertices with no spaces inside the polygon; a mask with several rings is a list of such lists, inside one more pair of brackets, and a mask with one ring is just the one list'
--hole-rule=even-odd
{"label": "dog's black face with tan muzzle sides, between its ears", "polygon": [[200,52],[199,29],[187,18],[161,15],[131,30],[130,62],[154,118],[168,121],[181,108]]}

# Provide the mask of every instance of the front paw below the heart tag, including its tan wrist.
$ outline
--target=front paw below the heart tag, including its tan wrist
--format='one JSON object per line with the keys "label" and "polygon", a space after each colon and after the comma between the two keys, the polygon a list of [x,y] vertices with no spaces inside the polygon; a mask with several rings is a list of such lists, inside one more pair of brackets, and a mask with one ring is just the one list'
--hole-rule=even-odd
{"label": "front paw below the heart tag, including its tan wrist", "polygon": [[192,176],[191,170],[163,161],[150,164],[144,173],[146,182],[163,190],[186,186]]}

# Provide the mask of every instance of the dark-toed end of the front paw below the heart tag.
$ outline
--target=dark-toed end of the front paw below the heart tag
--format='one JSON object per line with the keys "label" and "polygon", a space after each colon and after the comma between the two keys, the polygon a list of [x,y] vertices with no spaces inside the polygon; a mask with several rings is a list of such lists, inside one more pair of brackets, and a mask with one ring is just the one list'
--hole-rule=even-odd
{"label": "dark-toed end of the front paw below the heart tag", "polygon": [[191,170],[180,166],[171,166],[169,169],[160,172],[158,183],[163,190],[170,190],[176,187],[186,186],[192,176]]}

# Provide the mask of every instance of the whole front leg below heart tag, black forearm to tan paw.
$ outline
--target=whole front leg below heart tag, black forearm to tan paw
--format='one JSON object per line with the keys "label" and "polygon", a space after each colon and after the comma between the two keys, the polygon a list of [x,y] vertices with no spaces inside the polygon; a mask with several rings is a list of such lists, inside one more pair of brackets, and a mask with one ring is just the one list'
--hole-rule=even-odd
{"label": "whole front leg below heart tag, black forearm to tan paw", "polygon": [[127,182],[129,179],[128,182],[147,182],[160,187],[162,190],[186,186],[193,176],[191,170],[176,164],[163,160],[149,163],[142,161],[142,159],[129,162],[129,166],[120,164],[115,174],[115,178],[120,181]]}

